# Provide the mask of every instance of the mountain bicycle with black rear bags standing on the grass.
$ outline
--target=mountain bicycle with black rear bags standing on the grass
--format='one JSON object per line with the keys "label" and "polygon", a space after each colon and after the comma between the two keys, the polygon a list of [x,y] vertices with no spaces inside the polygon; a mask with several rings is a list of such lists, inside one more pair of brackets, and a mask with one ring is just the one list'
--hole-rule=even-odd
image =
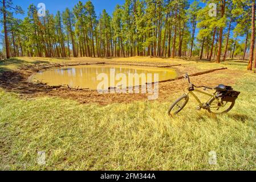
{"label": "mountain bicycle with black rear bags standing on the grass", "polygon": [[[196,101],[198,102],[197,109],[205,109],[209,113],[213,114],[224,114],[229,112],[231,109],[233,109],[235,105],[235,100],[237,100],[240,92],[234,91],[231,86],[225,86],[225,85],[218,85],[215,88],[210,88],[208,86],[196,86],[190,82],[190,78],[188,73],[184,76],[185,80],[188,79],[188,93],[185,93],[182,97],[178,98],[177,101],[174,102],[173,105],[170,106],[170,109],[168,111],[168,114],[170,116],[174,116],[189,102],[189,96],[193,96]],[[199,89],[206,90],[215,90],[216,92],[211,94],[208,92],[204,92]],[[196,96],[194,92],[198,92],[201,94],[205,94],[206,96],[209,96],[209,100],[205,103],[202,103],[200,99]]]}

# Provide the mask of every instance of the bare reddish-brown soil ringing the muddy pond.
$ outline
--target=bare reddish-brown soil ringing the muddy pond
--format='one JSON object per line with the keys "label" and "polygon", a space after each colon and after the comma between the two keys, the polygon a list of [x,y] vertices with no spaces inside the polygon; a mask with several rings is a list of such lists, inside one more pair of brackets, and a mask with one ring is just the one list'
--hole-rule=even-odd
{"label": "bare reddish-brown soil ringing the muddy pond", "polygon": [[[120,62],[107,60],[107,64],[120,64]],[[107,93],[100,94],[96,90],[87,89],[74,89],[66,88],[64,86],[48,86],[43,83],[32,83],[29,82],[29,77],[38,71],[44,71],[50,68],[59,68],[63,66],[74,66],[74,65],[86,65],[86,64],[100,64],[101,61],[90,61],[86,63],[85,61],[79,61],[78,63],[72,64],[54,64],[54,63],[42,63],[35,65],[24,65],[17,71],[6,71],[0,73],[0,87],[8,92],[18,93],[22,98],[34,98],[40,96],[52,96],[60,98],[68,98],[71,100],[79,101],[82,104],[100,104],[108,105],[113,103],[128,103],[132,101],[148,100],[148,94],[118,94],[118,93]],[[198,71],[193,67],[184,67],[183,65],[163,64],[163,63],[121,63],[127,65],[148,65],[155,67],[170,67],[175,68],[179,75],[185,72],[197,73]],[[225,76],[224,76],[225,74]],[[234,77],[235,75],[235,77]],[[195,85],[206,85],[206,86],[216,86],[218,84],[233,85],[238,77],[242,76],[243,72],[232,71],[229,69],[224,69],[221,71],[214,71],[205,75],[194,76],[191,81]],[[184,87],[184,80],[161,82],[159,84],[159,101],[163,102],[168,100],[168,98],[176,93],[182,92]]]}

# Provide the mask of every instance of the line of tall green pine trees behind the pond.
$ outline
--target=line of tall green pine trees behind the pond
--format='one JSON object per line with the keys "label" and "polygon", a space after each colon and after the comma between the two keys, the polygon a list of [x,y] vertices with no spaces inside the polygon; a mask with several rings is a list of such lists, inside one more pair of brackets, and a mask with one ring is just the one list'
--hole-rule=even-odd
{"label": "line of tall green pine trees behind the pond", "polygon": [[99,16],[91,1],[44,17],[30,5],[24,19],[14,17],[21,7],[0,2],[7,58],[159,56],[220,63],[239,56],[256,68],[255,0],[126,0],[112,15],[103,10]]}

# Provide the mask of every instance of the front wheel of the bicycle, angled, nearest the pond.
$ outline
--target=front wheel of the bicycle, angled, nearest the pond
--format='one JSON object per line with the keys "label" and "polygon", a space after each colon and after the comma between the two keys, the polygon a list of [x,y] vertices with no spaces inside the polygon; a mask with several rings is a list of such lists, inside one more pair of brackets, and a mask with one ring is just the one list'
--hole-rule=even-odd
{"label": "front wheel of the bicycle, angled, nearest the pond", "polygon": [[184,95],[180,98],[178,98],[177,101],[175,101],[173,103],[173,105],[170,106],[170,109],[168,111],[168,114],[170,116],[174,116],[178,113],[180,113],[180,111],[182,109],[184,109],[184,107],[186,106],[186,104],[188,104],[188,101],[189,101],[189,96],[188,95]]}

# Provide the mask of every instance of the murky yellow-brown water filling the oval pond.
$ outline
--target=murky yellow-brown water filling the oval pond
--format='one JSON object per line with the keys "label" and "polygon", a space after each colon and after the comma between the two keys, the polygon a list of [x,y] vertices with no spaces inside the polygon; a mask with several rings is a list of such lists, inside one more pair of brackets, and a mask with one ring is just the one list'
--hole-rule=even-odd
{"label": "murky yellow-brown water filling the oval pond", "polygon": [[[112,71],[112,72],[111,72]],[[155,67],[141,67],[141,66],[129,66],[129,65],[79,65],[75,67],[62,67],[58,69],[50,69],[45,72],[36,73],[31,77],[31,81],[41,81],[47,83],[50,86],[56,85],[68,85],[72,88],[88,88],[97,89],[97,85],[102,82],[102,80],[97,80],[97,76],[100,73],[105,73],[108,76],[109,87],[115,87],[120,80],[116,80],[113,76],[113,71],[115,71],[115,76],[118,73],[124,73],[127,76],[127,86],[136,86],[128,84],[129,73],[144,73],[145,76],[151,77],[152,82],[154,81],[154,73],[159,74],[159,81],[168,80],[171,78],[176,78],[177,73],[174,69],[170,68],[155,68]],[[111,78],[114,78],[111,82]],[[151,82],[151,80],[147,80]],[[145,83],[140,82],[140,85]]]}

